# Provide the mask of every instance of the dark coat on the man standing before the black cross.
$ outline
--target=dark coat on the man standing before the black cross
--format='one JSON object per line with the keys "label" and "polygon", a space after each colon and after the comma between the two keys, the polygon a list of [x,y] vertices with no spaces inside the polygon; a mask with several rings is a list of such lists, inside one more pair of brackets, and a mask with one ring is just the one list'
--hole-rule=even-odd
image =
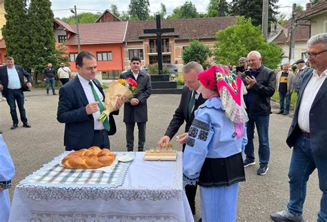
{"label": "dark coat on the man standing before the black cross", "polygon": [[[122,72],[119,78],[132,78],[135,80],[132,71]],[[148,121],[148,105],[146,101],[152,93],[150,76],[139,72],[137,85],[141,86],[141,90],[135,95],[135,98],[139,99],[139,104],[130,105],[130,103],[125,103],[123,106],[123,121],[127,123],[143,123]]]}

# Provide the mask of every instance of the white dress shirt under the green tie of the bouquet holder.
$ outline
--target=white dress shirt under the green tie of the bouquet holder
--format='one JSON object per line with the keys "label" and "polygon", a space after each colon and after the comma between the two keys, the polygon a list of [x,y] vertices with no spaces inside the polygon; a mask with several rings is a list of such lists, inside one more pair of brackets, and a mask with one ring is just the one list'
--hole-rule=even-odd
{"label": "white dress shirt under the green tie of the bouquet holder", "polygon": [[[83,90],[84,90],[84,92],[86,94],[86,98],[88,98],[88,103],[95,102],[95,95],[93,94],[91,85],[89,84],[90,81],[88,81],[88,79],[84,79],[79,74],[77,76],[79,77],[79,81],[81,82]],[[92,84],[95,86],[95,91],[97,91],[99,99],[101,101],[103,101],[103,95],[101,94],[101,92],[99,91],[99,89],[97,88],[95,83],[93,83],[93,81],[92,81]],[[97,120],[97,118],[100,116],[100,114],[101,114],[100,110],[97,111],[97,112],[94,112],[92,114],[93,119],[95,120],[95,130],[103,130],[104,129],[103,123],[101,121]]]}

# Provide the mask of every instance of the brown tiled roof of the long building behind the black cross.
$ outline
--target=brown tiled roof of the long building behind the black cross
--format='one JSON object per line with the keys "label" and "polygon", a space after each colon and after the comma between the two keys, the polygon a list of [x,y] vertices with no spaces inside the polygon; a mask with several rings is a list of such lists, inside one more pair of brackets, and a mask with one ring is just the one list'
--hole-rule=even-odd
{"label": "brown tiled roof of the long building behind the black cross", "polygon": [[[161,28],[175,28],[175,32],[162,36],[175,36],[175,39],[215,39],[216,32],[236,23],[236,17],[213,17],[201,19],[162,20]],[[144,29],[156,28],[155,21],[129,21],[125,41],[141,41]]]}

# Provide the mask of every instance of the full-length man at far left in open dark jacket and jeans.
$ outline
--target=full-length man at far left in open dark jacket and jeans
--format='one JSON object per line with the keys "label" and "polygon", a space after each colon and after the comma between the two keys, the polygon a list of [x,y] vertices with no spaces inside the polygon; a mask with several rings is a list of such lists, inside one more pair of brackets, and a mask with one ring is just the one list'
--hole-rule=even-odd
{"label": "full-length man at far left in open dark jacket and jeans", "polygon": [[[25,83],[24,77],[28,80]],[[12,118],[12,127],[14,130],[18,128],[18,117],[16,112],[16,102],[21,114],[21,121],[24,128],[30,128],[30,123],[26,118],[26,111],[24,108],[24,91],[30,91],[32,87],[32,78],[28,72],[26,72],[20,65],[14,65],[14,59],[12,57],[6,57],[6,65],[0,68],[0,90],[3,92],[3,96],[6,97],[7,103],[10,107],[10,114]]]}

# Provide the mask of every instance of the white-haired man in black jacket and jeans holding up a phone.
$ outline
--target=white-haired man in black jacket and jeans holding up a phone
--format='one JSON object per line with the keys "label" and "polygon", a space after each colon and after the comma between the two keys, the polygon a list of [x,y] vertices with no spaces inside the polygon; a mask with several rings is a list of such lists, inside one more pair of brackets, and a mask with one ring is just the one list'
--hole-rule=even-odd
{"label": "white-haired man in black jacket and jeans holding up a phone", "polygon": [[270,157],[268,127],[271,113],[270,97],[275,93],[276,74],[273,70],[262,65],[261,54],[257,51],[249,52],[248,65],[250,70],[244,72],[243,79],[248,90],[245,102],[248,111],[248,144],[244,150],[246,159],[244,167],[255,165],[253,137],[255,126],[259,137],[259,162],[257,174],[264,175],[268,171]]}

